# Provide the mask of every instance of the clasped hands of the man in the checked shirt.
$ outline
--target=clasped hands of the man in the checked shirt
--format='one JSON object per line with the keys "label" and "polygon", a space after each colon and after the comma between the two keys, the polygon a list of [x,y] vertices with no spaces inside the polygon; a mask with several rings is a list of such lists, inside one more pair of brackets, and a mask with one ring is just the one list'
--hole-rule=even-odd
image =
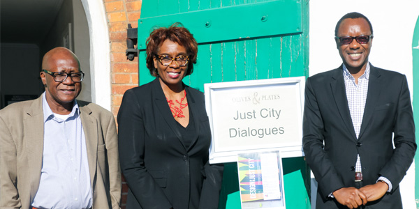
{"label": "clasped hands of the man in the checked shirt", "polygon": [[366,185],[357,189],[355,187],[343,187],[333,192],[337,202],[348,208],[358,208],[369,201],[376,201],[384,196],[388,190],[387,183],[378,181],[374,185]]}

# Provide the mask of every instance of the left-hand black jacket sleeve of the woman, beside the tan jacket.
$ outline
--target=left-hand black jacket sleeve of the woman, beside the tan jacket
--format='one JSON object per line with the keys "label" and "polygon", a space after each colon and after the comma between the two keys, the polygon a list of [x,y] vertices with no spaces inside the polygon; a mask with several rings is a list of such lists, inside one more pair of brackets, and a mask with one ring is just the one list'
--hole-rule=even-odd
{"label": "left-hand black jacket sleeve of the woman, beside the tan jacket", "polygon": [[[144,164],[145,126],[139,98],[133,90],[124,94],[118,113],[119,158],[129,189],[144,209],[168,209],[172,204],[154,182]],[[151,104],[150,104],[151,105]]]}

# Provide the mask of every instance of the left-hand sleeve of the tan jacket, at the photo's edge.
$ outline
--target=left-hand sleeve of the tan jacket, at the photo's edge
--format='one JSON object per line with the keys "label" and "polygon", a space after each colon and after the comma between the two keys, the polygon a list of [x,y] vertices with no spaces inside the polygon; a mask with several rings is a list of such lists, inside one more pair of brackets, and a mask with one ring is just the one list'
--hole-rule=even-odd
{"label": "left-hand sleeve of the tan jacket, at the photo's edge", "polygon": [[0,208],[22,208],[17,192],[17,150],[8,125],[0,116]]}

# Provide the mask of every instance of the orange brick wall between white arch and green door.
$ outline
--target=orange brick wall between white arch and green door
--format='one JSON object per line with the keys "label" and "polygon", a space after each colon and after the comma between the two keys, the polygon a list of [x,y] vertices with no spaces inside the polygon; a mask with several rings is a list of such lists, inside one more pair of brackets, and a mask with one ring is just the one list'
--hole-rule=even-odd
{"label": "orange brick wall between white arch and green door", "polygon": [[[138,27],[141,0],[103,0],[105,3],[110,37],[110,64],[112,78],[112,113],[115,118],[121,105],[122,95],[138,86],[138,57],[128,61],[125,56],[126,29],[128,23]],[[122,209],[125,209],[128,186],[122,181]]]}

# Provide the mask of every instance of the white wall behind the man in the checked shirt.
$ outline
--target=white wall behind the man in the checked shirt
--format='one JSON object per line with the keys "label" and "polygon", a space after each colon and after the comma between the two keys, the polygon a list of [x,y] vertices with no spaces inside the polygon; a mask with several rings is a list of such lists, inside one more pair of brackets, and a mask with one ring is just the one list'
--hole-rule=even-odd
{"label": "white wall behind the man in the checked shirt", "polygon": [[[337,21],[346,13],[358,12],[367,16],[374,29],[369,61],[377,67],[395,70],[406,75],[411,96],[412,39],[419,15],[417,0],[321,0],[310,1],[310,65],[309,74],[332,70],[341,65],[334,40]],[[416,208],[414,164],[400,184],[404,208]],[[312,183],[314,194],[317,187]],[[315,196],[312,196],[312,206]]]}

